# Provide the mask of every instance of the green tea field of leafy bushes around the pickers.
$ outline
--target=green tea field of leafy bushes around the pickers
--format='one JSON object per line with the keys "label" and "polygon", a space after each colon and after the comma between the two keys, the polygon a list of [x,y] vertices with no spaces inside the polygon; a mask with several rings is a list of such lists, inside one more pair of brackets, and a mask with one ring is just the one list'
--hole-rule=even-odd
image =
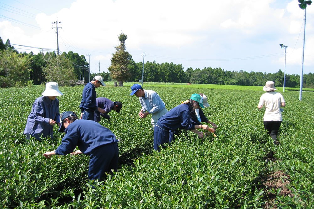
{"label": "green tea field of leafy bushes around the pickers", "polygon": [[[193,93],[204,93],[204,109],[218,125],[217,137],[197,138],[183,131],[161,152],[153,150],[150,117],[140,119],[130,86],[107,85],[98,97],[123,104],[120,114],[101,124],[119,139],[119,170],[105,182],[89,182],[89,157],[43,153],[60,144],[55,138],[26,141],[23,131],[32,104],[45,86],[0,89],[1,208],[313,208],[314,92],[285,91],[280,145],[263,129],[257,109],[263,87],[144,84],[160,95],[168,110]],[[79,113],[83,86],[60,87],[60,112]],[[279,88],[280,92],[280,88]],[[274,174],[283,187],[265,182]],[[267,186],[265,186],[267,185]],[[286,193],[282,192],[288,191]]]}

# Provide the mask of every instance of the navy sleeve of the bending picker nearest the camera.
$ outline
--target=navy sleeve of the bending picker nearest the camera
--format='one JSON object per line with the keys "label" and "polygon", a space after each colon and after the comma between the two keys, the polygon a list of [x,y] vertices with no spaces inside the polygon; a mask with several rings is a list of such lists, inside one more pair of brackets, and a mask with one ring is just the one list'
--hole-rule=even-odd
{"label": "navy sleeve of the bending picker nearest the camera", "polygon": [[78,143],[78,134],[74,130],[67,130],[66,135],[62,138],[61,144],[55,150],[55,153],[58,155],[67,155],[73,152]]}

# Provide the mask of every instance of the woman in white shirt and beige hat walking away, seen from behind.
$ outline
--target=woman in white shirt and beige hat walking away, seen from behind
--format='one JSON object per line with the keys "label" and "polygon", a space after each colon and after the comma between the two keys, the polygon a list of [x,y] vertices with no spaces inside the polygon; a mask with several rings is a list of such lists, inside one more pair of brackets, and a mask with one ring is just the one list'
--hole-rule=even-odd
{"label": "woman in white shirt and beige hat walking away, seen from behind", "polygon": [[261,96],[257,108],[262,109],[265,106],[263,117],[265,130],[273,139],[274,144],[279,144],[277,143],[277,133],[282,122],[282,109],[280,107],[286,106],[286,102],[279,92],[275,92],[277,89],[273,81],[267,81],[263,90],[266,93]]}

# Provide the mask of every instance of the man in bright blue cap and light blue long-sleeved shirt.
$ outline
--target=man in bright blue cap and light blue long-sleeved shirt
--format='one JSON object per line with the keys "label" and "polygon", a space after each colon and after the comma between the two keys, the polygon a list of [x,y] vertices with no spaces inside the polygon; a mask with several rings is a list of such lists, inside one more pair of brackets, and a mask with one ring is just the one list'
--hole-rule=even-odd
{"label": "man in bright blue cap and light blue long-sleeved shirt", "polygon": [[135,94],[142,106],[142,109],[138,113],[139,117],[146,118],[147,115],[152,114],[151,124],[155,128],[158,119],[168,112],[165,103],[155,91],[145,90],[139,84],[134,84],[131,87],[131,91],[130,95]]}

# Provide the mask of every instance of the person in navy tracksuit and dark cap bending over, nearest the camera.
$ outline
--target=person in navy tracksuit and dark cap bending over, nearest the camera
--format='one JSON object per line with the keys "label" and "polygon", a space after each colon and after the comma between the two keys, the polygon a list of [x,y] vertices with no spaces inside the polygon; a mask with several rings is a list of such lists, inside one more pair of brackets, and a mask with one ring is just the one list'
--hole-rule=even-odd
{"label": "person in navy tracksuit and dark cap bending over, nearest the camera", "polygon": [[[67,155],[83,153],[90,156],[88,178],[102,180],[105,173],[118,170],[119,148],[115,135],[106,127],[91,120],[78,120],[75,112],[66,111],[60,115],[59,132],[65,132],[61,144],[54,151],[44,153]],[[78,146],[79,150],[73,152]]]}

